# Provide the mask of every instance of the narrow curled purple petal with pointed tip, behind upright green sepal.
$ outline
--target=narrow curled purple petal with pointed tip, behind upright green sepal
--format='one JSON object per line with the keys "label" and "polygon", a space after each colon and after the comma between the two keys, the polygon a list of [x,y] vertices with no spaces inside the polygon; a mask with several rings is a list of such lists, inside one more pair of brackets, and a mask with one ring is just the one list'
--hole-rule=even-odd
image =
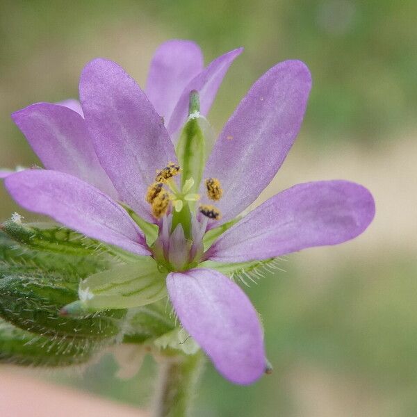
{"label": "narrow curled purple petal with pointed tip, behind upright green sepal", "polygon": [[188,103],[190,101],[190,92],[197,90],[199,92],[200,113],[206,115],[211,108],[214,97],[218,92],[220,84],[227,70],[234,59],[239,56],[243,48],[234,49],[219,56],[213,60],[208,66],[200,72],[193,80],[184,88],[181,97],[175,106],[172,117],[167,124],[170,135],[173,135],[186,122],[188,117]]}

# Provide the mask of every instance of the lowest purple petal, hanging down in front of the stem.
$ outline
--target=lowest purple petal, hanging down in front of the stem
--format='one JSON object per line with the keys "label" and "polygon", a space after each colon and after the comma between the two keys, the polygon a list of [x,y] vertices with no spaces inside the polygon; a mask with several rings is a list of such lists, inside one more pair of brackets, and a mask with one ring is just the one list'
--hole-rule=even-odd
{"label": "lowest purple petal, hanging down in front of the stem", "polygon": [[171,272],[168,294],[181,325],[231,382],[251,384],[265,370],[263,332],[247,295],[215,270]]}

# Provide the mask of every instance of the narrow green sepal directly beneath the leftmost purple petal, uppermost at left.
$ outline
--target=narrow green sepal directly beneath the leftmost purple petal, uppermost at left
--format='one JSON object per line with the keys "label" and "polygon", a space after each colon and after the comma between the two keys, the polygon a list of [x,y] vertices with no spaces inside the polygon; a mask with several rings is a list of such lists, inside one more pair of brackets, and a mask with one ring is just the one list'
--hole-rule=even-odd
{"label": "narrow green sepal directly beneath the leftmost purple petal, uppermost at left", "polygon": [[56,252],[72,256],[96,257],[100,252],[105,252],[98,240],[85,236],[60,226],[51,224],[23,224],[8,220],[1,224],[1,229],[17,243],[34,250]]}

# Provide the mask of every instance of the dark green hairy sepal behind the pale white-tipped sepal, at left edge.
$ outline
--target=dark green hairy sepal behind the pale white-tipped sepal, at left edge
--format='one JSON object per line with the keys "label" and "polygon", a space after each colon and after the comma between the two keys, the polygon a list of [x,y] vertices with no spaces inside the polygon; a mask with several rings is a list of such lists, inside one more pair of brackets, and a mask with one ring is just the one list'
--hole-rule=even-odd
{"label": "dark green hairy sepal behind the pale white-tipped sepal, at left edge", "polygon": [[62,338],[102,340],[120,333],[126,311],[108,311],[82,318],[63,317],[60,309],[78,297],[76,277],[34,268],[0,270],[0,316],[16,327]]}

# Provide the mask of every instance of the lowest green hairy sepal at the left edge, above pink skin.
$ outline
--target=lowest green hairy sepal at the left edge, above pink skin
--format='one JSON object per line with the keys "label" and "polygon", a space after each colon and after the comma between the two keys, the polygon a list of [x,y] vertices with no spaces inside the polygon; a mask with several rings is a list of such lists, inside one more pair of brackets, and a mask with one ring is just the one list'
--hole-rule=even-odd
{"label": "lowest green hairy sepal at the left edge, above pink skin", "polygon": [[88,361],[99,345],[86,339],[41,336],[0,321],[0,363],[70,366]]}

